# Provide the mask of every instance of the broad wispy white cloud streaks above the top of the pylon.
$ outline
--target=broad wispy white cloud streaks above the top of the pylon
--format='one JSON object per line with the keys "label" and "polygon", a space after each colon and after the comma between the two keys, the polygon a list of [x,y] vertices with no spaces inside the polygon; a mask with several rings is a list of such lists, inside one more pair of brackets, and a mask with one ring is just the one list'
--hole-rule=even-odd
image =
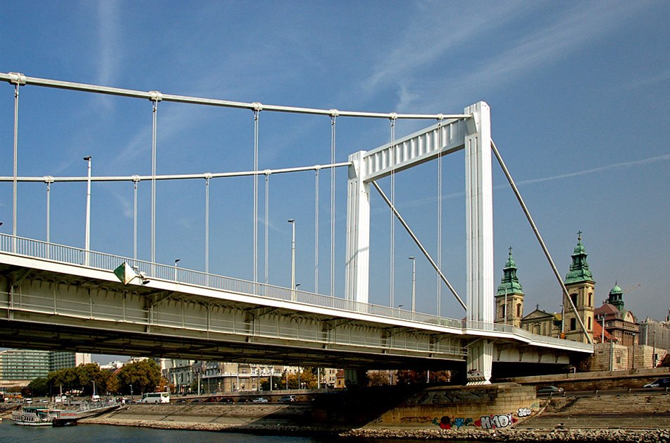
{"label": "broad wispy white cloud streaks above the top of the pylon", "polygon": [[398,97],[397,111],[442,109],[445,103],[471,99],[473,92],[482,95],[538,69],[550,68],[616,30],[636,9],[646,7],[635,2],[571,6],[546,18],[547,25],[516,39],[508,36],[502,40],[501,44],[507,44],[502,50],[462,63],[469,47],[496,40],[496,33],[505,32],[511,20],[529,15],[538,6],[542,4],[503,2],[476,13],[456,13],[452,8],[442,8],[440,13],[437,8],[415,17],[407,26],[410,31],[377,63],[361,89],[373,95],[392,87]]}

